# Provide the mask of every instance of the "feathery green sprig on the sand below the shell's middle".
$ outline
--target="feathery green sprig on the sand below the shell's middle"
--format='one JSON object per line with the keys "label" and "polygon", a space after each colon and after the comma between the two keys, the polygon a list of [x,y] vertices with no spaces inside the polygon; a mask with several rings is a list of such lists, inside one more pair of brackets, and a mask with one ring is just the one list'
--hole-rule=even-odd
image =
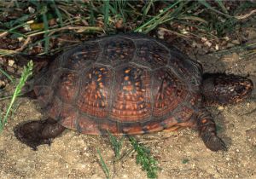
{"label": "feathery green sprig on the sand below the shell's middle", "polygon": [[157,171],[159,170],[157,160],[151,155],[150,150],[142,144],[139,144],[134,137],[130,136],[129,139],[132,147],[137,152],[137,164],[141,165],[143,170],[147,171],[148,178],[156,178]]}

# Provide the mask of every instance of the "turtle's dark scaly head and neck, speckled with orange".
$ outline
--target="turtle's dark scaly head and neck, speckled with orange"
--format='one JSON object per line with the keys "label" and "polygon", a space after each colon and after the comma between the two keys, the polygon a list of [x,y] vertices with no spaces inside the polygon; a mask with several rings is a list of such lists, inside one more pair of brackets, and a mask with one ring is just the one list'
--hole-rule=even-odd
{"label": "turtle's dark scaly head and neck, speckled with orange", "polygon": [[232,104],[246,99],[253,90],[252,80],[224,73],[203,75],[202,93],[207,104]]}

